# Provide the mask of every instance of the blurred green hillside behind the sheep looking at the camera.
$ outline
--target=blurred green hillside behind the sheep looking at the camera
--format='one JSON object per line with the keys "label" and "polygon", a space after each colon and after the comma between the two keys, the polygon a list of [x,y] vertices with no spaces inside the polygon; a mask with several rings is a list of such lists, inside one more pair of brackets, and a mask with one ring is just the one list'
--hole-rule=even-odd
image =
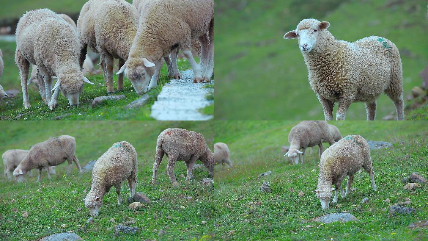
{"label": "blurred green hillside behind the sheep looking at the camera", "polygon": [[[379,35],[400,50],[404,96],[420,86],[428,63],[426,1],[271,0],[216,1],[216,118],[228,120],[324,119],[309,86],[297,40],[282,36],[303,18],[329,21],[336,39],[356,41]],[[395,111],[382,95],[377,119]],[[365,120],[363,103],[354,103],[347,120]]]}

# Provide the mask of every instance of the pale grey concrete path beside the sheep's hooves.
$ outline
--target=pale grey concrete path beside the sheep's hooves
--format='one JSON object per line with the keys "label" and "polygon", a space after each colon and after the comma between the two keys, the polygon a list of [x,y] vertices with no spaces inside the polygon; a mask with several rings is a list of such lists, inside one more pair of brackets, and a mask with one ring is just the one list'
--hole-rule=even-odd
{"label": "pale grey concrete path beside the sheep's hooves", "polygon": [[213,118],[199,112],[200,108],[210,105],[207,100],[211,88],[203,88],[209,83],[193,83],[191,69],[181,72],[181,79],[171,79],[162,87],[158,100],[152,105],[151,117],[159,121],[206,121]]}

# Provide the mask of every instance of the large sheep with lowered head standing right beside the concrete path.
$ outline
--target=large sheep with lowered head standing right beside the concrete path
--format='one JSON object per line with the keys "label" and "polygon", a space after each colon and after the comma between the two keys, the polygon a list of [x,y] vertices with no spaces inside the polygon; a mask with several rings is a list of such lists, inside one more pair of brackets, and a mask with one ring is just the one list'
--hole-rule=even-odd
{"label": "large sheep with lowered head standing right beside the concrete path", "polygon": [[[193,39],[201,45],[200,66],[193,59]],[[125,72],[141,95],[157,86],[161,57],[176,48],[192,66],[193,83],[209,82],[214,68],[214,0],[146,2],[128,60],[117,74]]]}

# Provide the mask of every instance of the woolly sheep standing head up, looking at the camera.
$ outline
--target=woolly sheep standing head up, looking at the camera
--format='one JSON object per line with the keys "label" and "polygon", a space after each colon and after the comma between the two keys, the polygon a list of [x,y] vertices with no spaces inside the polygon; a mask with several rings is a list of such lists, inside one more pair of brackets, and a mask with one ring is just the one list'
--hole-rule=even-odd
{"label": "woolly sheep standing head up, looking at the camera", "polygon": [[325,120],[345,120],[351,103],[365,102],[367,120],[375,120],[376,100],[386,93],[395,104],[398,120],[404,120],[403,74],[400,53],[394,43],[379,36],[356,42],[336,40],[328,22],[303,19],[284,39],[298,38],[308,68],[309,84],[317,94]]}

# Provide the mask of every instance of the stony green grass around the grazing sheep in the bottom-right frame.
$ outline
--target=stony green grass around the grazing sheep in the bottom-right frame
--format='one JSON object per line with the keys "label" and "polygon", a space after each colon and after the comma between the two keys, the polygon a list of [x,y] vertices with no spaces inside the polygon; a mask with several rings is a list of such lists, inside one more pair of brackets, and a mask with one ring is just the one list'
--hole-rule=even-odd
{"label": "stony green grass around the grazing sheep in the bottom-right frame", "polygon": [[[428,217],[427,185],[414,193],[404,190],[401,179],[413,172],[427,177],[426,123],[386,121],[330,122],[343,136],[359,134],[368,140],[387,141],[393,147],[371,151],[377,192],[369,175],[357,173],[351,192],[339,197],[341,208],[330,204],[326,211],[311,191],[318,183],[318,148],[305,163],[291,165],[280,146],[288,145],[288,132],[297,121],[216,121],[214,143],[225,142],[234,167],[215,170],[217,190],[214,197],[215,237],[218,240],[426,240],[428,229],[407,229],[410,223]],[[324,145],[324,150],[328,145]],[[404,159],[410,154],[408,160]],[[262,172],[273,175],[257,180]],[[263,181],[271,184],[271,193],[261,193]],[[345,187],[346,180],[342,183]],[[293,189],[294,191],[290,190]],[[302,191],[304,196],[297,193]],[[361,205],[364,197],[369,203]],[[388,204],[382,200],[389,198]],[[383,208],[410,198],[416,215],[389,217]],[[320,225],[314,218],[327,213],[348,211],[358,221]],[[417,219],[419,218],[419,219]],[[313,227],[306,227],[311,225]],[[318,227],[318,228],[317,228]],[[229,234],[235,230],[234,234]]]}

